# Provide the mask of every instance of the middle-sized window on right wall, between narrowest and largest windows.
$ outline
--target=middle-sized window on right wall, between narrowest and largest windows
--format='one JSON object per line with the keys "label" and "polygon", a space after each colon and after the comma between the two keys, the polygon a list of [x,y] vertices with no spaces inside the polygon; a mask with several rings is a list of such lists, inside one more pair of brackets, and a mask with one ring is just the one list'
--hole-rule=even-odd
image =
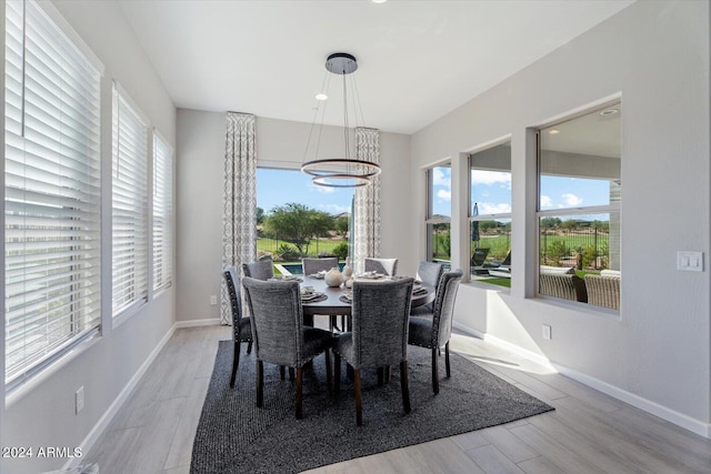
{"label": "middle-sized window on right wall, between narrowest and largest windows", "polygon": [[470,274],[511,285],[511,144],[469,157]]}

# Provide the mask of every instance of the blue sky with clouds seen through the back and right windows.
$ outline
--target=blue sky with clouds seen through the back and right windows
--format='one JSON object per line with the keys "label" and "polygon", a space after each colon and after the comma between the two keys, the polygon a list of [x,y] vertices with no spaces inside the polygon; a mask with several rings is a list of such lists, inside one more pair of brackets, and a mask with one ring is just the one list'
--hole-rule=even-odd
{"label": "blue sky with clouds seen through the back and right windows", "polygon": [[[451,215],[451,169],[432,171],[433,213]],[[472,202],[479,215],[511,212],[511,173],[473,171]],[[543,177],[541,209],[563,209],[609,203],[610,183],[605,180]],[[329,214],[350,212],[353,189],[311,184],[311,177],[299,170],[257,169],[257,205],[269,213],[274,206],[299,202]]]}

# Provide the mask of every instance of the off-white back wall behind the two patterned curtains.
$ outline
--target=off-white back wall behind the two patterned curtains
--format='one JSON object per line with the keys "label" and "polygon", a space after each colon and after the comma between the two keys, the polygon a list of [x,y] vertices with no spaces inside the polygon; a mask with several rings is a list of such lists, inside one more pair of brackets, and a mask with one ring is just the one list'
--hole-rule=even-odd
{"label": "off-white back wall behind the two patterned curtains", "polygon": [[[259,167],[298,169],[311,124],[257,118]],[[382,167],[383,256],[403,260],[401,272],[414,273],[404,262],[412,239],[402,238],[410,222],[410,138],[380,134]],[[321,150],[342,153],[342,129],[324,127]],[[210,295],[220,294],[222,268],[222,193],[224,173],[224,113],[178,110],[178,321],[191,324],[219,320]],[[259,184],[259,183],[258,183]],[[297,198],[297,196],[294,196]]]}

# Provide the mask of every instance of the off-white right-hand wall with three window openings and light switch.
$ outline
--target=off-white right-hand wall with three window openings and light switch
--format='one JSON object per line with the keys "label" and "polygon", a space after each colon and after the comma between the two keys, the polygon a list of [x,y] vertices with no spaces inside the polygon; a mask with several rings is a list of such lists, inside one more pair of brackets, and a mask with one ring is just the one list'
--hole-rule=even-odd
{"label": "off-white right-hand wall with three window openings and light switch", "polygon": [[[619,316],[534,297],[535,147],[527,132],[615,95],[623,110]],[[417,132],[415,201],[424,195],[422,167],[511,135],[512,288],[463,285],[455,321],[711,436],[709,270],[675,266],[678,250],[703,251],[709,261],[710,125],[709,2],[640,1]],[[412,233],[423,234],[421,220]],[[424,255],[419,242],[413,260]],[[542,324],[552,340],[541,337]]]}

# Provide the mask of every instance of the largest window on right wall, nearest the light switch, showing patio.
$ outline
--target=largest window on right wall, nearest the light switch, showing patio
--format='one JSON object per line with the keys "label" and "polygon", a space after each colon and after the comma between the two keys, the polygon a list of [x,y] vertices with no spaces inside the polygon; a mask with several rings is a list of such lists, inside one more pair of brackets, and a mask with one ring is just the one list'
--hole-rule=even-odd
{"label": "largest window on right wall, nearest the light switch, showing patio", "polygon": [[[619,307],[621,114],[617,102],[539,131],[541,294]],[[612,279],[604,302],[600,274]]]}

